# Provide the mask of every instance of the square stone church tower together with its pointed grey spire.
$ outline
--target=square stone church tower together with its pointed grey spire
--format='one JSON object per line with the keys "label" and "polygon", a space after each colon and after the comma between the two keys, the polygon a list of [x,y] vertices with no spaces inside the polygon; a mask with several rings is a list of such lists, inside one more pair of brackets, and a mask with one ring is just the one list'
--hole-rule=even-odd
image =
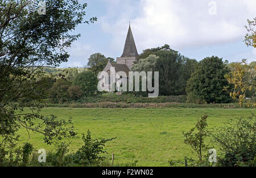
{"label": "square stone church tower together with its pointed grey spire", "polygon": [[129,29],[125,41],[125,48],[123,48],[122,56],[117,58],[117,63],[125,64],[131,70],[131,67],[134,65],[133,62],[136,61],[137,56],[139,56],[139,54],[137,52],[133,38],[133,32],[131,32],[131,26],[129,24]]}

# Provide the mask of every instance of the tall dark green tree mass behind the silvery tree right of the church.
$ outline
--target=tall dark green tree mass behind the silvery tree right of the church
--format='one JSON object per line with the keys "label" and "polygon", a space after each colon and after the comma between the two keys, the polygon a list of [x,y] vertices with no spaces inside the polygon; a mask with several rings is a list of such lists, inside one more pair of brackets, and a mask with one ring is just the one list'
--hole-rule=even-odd
{"label": "tall dark green tree mass behind the silvery tree right of the church", "polygon": [[[143,50],[137,59],[146,59],[150,55],[158,57],[158,59],[155,59],[156,63],[145,67],[138,62],[138,65],[141,66],[138,70],[147,71],[151,69],[152,71],[159,71],[160,95],[185,95],[187,78],[190,77],[194,69],[193,65],[190,65],[190,60],[177,51],[172,50],[169,45]],[[142,64],[146,61],[143,60]],[[137,64],[135,64],[135,66],[137,66]],[[185,71],[188,67],[191,70]]]}

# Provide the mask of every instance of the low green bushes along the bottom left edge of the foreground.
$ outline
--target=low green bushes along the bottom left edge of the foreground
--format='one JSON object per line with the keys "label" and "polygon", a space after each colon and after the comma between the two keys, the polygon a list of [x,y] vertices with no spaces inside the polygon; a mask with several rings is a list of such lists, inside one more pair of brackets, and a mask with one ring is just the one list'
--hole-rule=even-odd
{"label": "low green bushes along the bottom left edge of the foreground", "polygon": [[[15,152],[5,156],[5,160],[0,162],[0,166],[99,166],[104,163],[105,158],[100,156],[104,151],[105,143],[112,141],[110,139],[92,139],[90,131],[88,134],[83,135],[82,140],[84,145],[75,153],[69,152],[68,146],[61,142],[56,145],[55,151],[46,153],[46,163],[39,163],[39,154],[30,143],[25,143],[22,149],[18,147]],[[0,153],[2,153],[0,151]],[[0,154],[0,158],[2,154]],[[2,160],[2,159],[1,159]]]}

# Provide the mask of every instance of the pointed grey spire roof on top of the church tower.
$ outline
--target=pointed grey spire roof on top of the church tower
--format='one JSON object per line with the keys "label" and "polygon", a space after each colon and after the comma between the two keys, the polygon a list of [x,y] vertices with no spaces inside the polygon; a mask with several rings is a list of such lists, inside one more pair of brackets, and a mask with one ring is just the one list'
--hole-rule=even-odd
{"label": "pointed grey spire roof on top of the church tower", "polygon": [[121,57],[137,57],[138,52],[133,38],[133,32],[131,32],[131,26],[129,25],[128,33],[125,41],[125,48]]}

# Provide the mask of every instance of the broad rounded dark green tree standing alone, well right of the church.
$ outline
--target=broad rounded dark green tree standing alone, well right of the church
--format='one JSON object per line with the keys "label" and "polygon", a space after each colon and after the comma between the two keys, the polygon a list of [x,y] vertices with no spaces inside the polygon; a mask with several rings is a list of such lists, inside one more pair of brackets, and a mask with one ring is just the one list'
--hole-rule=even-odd
{"label": "broad rounded dark green tree standing alone, well right of the church", "polygon": [[204,58],[199,62],[195,72],[188,80],[186,92],[188,101],[192,103],[226,103],[230,100],[224,86],[228,81],[224,75],[228,73],[222,58],[215,56]]}

